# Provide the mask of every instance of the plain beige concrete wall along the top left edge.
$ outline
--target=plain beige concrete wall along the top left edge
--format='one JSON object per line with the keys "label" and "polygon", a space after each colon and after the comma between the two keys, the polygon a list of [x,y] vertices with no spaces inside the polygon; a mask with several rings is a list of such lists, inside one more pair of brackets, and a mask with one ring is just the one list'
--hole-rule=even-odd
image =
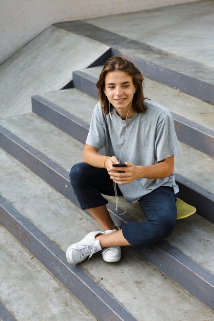
{"label": "plain beige concrete wall along the top left edge", "polygon": [[56,22],[197,0],[0,0],[0,63]]}

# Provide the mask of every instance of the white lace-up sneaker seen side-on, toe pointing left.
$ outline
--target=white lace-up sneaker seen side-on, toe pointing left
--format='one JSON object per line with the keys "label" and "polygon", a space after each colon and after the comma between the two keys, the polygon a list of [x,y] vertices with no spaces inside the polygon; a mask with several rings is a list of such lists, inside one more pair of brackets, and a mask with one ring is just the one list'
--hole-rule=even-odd
{"label": "white lace-up sneaker seen side-on, toe pointing left", "polygon": [[[80,242],[71,244],[66,251],[68,263],[77,264],[82,262],[86,257],[89,258],[96,252],[101,251],[99,239],[95,239],[96,235],[105,234],[104,232],[96,231],[88,233]],[[88,259],[89,259],[88,258]]]}

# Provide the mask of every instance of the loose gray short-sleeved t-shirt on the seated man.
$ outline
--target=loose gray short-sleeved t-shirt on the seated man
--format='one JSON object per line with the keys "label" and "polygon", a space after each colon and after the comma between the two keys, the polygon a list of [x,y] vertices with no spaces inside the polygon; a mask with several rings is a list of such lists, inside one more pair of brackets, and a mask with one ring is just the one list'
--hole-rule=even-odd
{"label": "loose gray short-sleeved t-shirt on the seated man", "polygon": [[[135,113],[127,121],[115,110],[110,115],[96,104],[86,144],[101,149],[106,155],[116,156],[121,163],[154,165],[172,155],[181,154],[171,113],[160,104],[145,100],[148,109]],[[143,195],[160,186],[170,186],[179,191],[174,174],[160,179],[140,178],[130,184],[118,185],[128,203],[134,204]]]}

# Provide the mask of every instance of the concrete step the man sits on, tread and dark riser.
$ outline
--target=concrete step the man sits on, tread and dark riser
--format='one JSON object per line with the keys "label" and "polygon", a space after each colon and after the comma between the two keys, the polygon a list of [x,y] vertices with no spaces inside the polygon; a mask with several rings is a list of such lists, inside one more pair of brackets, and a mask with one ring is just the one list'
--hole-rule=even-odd
{"label": "concrete step the man sits on, tread and dark riser", "polygon": [[[33,113],[4,119],[0,124],[7,128],[2,127],[2,147],[78,205],[69,183],[68,172],[73,164],[81,161],[84,145]],[[109,203],[108,209],[119,226],[142,217],[136,207],[128,208],[128,214],[122,216],[116,215],[112,203]],[[196,229],[195,224],[200,229]],[[180,226],[188,232],[183,233]],[[141,254],[190,293],[214,308],[211,301],[214,295],[214,262],[211,259],[213,224],[194,215],[183,220],[176,231],[168,241],[145,248]],[[198,237],[202,234],[207,238]],[[179,236],[178,241],[176,235]],[[187,239],[187,242],[191,240],[192,246],[185,248]],[[206,255],[203,248],[207,250]],[[202,256],[198,255],[199,249]]]}

